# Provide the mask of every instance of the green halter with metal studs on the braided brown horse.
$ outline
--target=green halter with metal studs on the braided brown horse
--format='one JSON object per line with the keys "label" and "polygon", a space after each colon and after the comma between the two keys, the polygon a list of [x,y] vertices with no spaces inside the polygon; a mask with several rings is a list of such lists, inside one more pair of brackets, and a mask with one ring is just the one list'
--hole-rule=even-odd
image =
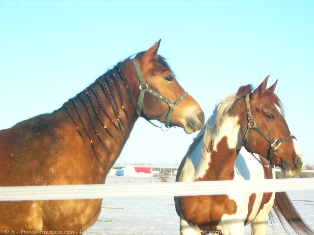
{"label": "green halter with metal studs on the braided brown horse", "polygon": [[148,85],[145,83],[144,81],[144,77],[142,74],[141,69],[139,68],[139,65],[136,61],[135,58],[131,59],[131,61],[134,64],[134,67],[136,69],[138,78],[139,78],[139,90],[141,90],[139,97],[138,97],[138,104],[137,104],[137,112],[138,112],[138,116],[145,118],[147,121],[149,121],[151,124],[153,124],[156,127],[156,124],[154,124],[151,120],[149,120],[148,118],[142,116],[142,108],[143,108],[143,101],[144,101],[144,94],[145,92],[148,92],[152,95],[154,95],[155,97],[157,97],[158,99],[162,100],[163,102],[167,103],[169,105],[169,111],[167,114],[167,117],[165,119],[165,122],[162,125],[165,125],[165,127],[167,129],[162,129],[162,125],[161,125],[161,130],[163,131],[167,131],[169,129],[169,123],[173,114],[173,111],[175,109],[175,107],[188,95],[187,92],[184,92],[178,99],[176,100],[171,100],[171,99],[167,99],[166,97],[164,97],[163,95],[159,94],[158,92],[154,91],[153,89],[149,88]]}

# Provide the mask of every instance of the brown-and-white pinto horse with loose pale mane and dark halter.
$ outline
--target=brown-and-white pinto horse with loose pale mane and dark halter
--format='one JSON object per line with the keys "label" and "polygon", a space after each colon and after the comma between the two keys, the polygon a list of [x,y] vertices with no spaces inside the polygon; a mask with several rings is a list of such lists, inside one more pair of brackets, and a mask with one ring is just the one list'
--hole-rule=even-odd
{"label": "brown-and-white pinto horse with loose pale mane and dark halter", "polygon": [[[277,81],[266,89],[267,80],[253,92],[252,85],[240,87],[216,106],[183,158],[176,181],[272,179],[273,165],[289,175],[302,171],[303,153],[274,94]],[[274,200],[275,212],[297,233],[313,234],[285,193],[276,193],[276,199],[275,193],[183,196],[175,197],[175,204],[183,235],[239,235],[247,224],[252,234],[265,235]]]}

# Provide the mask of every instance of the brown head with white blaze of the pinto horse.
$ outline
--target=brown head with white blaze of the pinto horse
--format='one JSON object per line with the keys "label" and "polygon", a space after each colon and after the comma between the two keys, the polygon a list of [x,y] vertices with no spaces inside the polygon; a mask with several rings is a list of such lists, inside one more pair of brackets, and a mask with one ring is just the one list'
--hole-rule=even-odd
{"label": "brown head with white blaze of the pinto horse", "polygon": [[242,101],[241,137],[249,152],[260,154],[270,165],[280,166],[286,174],[294,175],[302,171],[304,156],[289,131],[282,103],[274,94],[278,80],[267,89],[268,77]]}

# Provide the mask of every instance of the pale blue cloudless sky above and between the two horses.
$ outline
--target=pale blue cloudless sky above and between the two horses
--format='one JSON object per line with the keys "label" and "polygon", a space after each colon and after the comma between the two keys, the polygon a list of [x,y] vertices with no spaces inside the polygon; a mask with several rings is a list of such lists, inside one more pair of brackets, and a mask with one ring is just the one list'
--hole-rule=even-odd
{"label": "pale blue cloudless sky above and between the two horses", "polygon": [[[291,132],[314,164],[313,11],[312,0],[0,1],[0,129],[52,112],[161,38],[159,54],[206,119],[240,85],[279,79]],[[193,137],[139,119],[117,163],[179,164]]]}

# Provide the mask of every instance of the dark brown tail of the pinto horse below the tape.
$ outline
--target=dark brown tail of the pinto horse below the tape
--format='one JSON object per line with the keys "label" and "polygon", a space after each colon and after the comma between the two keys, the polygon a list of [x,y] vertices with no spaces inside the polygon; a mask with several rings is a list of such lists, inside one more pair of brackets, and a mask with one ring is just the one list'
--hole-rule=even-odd
{"label": "dark brown tail of the pinto horse below the tape", "polygon": [[[289,226],[298,235],[314,235],[314,231],[307,225],[298,211],[296,211],[287,192],[276,192],[273,210],[287,234],[289,234],[289,232],[285,221],[288,222]],[[270,222],[273,223],[273,218],[271,218],[272,214],[269,213],[269,216]]]}

